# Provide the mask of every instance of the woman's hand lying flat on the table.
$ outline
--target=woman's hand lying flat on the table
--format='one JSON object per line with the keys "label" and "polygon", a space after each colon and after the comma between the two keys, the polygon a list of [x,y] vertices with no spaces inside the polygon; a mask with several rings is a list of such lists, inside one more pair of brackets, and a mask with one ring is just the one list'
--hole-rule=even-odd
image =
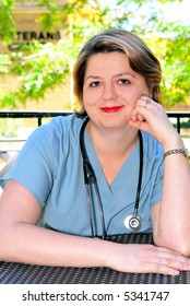
{"label": "woman's hand lying flat on the table", "polygon": [[112,246],[108,267],[131,273],[163,273],[178,275],[190,270],[190,258],[167,248],[153,245]]}

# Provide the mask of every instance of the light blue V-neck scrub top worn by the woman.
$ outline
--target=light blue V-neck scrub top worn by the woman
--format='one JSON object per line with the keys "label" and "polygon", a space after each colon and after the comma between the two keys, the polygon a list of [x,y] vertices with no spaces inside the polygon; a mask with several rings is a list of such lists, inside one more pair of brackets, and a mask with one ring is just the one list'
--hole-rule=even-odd
{"label": "light blue V-neck scrub top worn by the woman", "polygon": [[[40,226],[91,236],[79,140],[82,123],[83,119],[71,115],[54,118],[48,125],[37,128],[0,184],[4,187],[5,181],[13,178],[34,195],[43,209]],[[146,132],[142,136],[144,170],[139,207],[142,227],[139,232],[149,233],[152,232],[151,208],[162,199],[163,146]],[[86,129],[84,140],[97,178],[107,235],[127,234],[124,219],[133,213],[138,187],[139,144],[108,185]],[[96,234],[100,236],[100,216],[94,190],[93,200]]]}

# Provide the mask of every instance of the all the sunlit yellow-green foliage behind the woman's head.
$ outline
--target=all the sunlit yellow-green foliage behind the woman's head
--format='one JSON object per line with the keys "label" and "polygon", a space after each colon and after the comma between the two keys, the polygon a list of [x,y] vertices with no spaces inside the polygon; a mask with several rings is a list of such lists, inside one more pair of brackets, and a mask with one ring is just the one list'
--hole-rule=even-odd
{"label": "all the sunlit yellow-green foliage behind the woman's head", "polygon": [[[24,0],[23,0],[24,2]],[[64,30],[66,37],[57,44],[34,40],[16,51],[0,55],[0,73],[15,74],[16,91],[1,91],[0,107],[14,108],[27,99],[38,101],[49,90],[67,80],[84,42],[107,27],[122,27],[140,35],[161,59],[163,66],[163,101],[166,106],[186,103],[189,92],[189,28],[180,22],[169,23],[156,3],[167,0],[55,0],[35,1],[48,10],[40,14],[43,30]],[[146,12],[143,9],[146,5]],[[1,40],[10,44],[15,34],[13,0],[0,1]],[[5,23],[9,20],[10,26]],[[5,28],[5,30],[4,30]]]}

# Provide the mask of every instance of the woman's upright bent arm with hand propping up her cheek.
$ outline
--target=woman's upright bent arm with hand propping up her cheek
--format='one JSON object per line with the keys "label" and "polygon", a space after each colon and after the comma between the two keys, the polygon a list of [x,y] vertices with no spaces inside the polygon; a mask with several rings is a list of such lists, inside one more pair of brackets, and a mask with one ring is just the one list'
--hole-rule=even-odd
{"label": "woman's upright bent arm with hand propping up her cheek", "polygon": [[[132,127],[151,133],[163,144],[164,152],[185,148],[161,104],[142,96],[133,110]],[[152,209],[154,242],[157,246],[190,256],[190,165],[181,153],[164,160],[161,203]]]}

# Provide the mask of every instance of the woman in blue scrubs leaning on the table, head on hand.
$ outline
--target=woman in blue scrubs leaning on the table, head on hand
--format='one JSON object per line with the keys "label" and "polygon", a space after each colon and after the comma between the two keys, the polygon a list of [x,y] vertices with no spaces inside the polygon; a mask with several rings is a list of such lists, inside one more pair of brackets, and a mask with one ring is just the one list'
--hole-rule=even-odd
{"label": "woman in blue scrubs leaning on the table, head on hand", "polygon": [[[36,129],[1,183],[1,260],[190,270],[190,168],[159,104],[161,78],[158,60],[132,33],[108,30],[85,44],[74,70],[78,116]],[[87,197],[80,145],[98,185]],[[92,239],[131,231],[153,232],[155,246]]]}

